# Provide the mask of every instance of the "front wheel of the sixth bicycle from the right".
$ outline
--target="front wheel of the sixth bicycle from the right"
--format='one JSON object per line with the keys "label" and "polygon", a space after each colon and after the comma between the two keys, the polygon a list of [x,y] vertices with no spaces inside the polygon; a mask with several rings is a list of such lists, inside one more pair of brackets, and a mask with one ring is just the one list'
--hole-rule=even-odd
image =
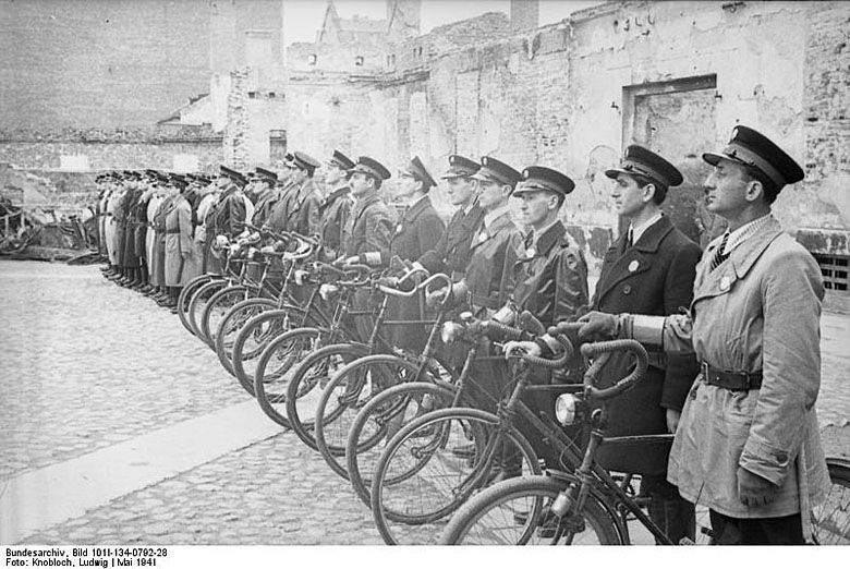
{"label": "front wheel of the sixth bicycle from the right", "polygon": [[[281,334],[266,347],[257,362],[257,368],[254,374],[254,397],[259,402],[260,408],[263,408],[264,402],[270,402],[269,396],[274,399],[280,397],[280,390],[277,390],[278,392],[269,390],[270,385],[280,385],[282,383],[283,391],[286,392],[287,384],[292,377],[292,370],[296,362],[302,361],[306,354],[316,351],[318,349],[317,344],[321,342],[323,337],[327,337],[327,330],[321,328],[295,328]],[[283,358],[281,358],[281,354],[283,354]],[[272,360],[276,358],[279,360],[279,363],[271,365]],[[262,395],[262,400],[258,394]],[[280,417],[281,420],[270,419],[287,428],[290,427],[287,417]]]}

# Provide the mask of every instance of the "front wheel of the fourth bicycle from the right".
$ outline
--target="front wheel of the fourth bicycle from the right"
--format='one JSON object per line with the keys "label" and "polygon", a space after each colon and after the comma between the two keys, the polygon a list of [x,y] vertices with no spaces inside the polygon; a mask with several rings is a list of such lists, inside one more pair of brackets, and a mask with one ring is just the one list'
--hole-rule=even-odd
{"label": "front wheel of the fourth bicycle from the right", "polygon": [[[377,395],[375,386],[377,385],[378,392],[382,392],[397,384],[422,379],[416,377],[417,372],[418,366],[409,360],[392,354],[376,354],[352,362],[331,377],[316,405],[314,432],[319,453],[333,472],[349,480],[344,456],[350,426],[360,409]],[[360,377],[361,374],[363,378]],[[366,374],[371,379],[365,379]],[[377,382],[375,375],[378,376]],[[372,387],[364,400],[361,395],[366,383]],[[335,398],[342,404],[331,405]],[[376,434],[373,440],[364,441],[364,446],[374,446],[379,438],[380,435]]]}

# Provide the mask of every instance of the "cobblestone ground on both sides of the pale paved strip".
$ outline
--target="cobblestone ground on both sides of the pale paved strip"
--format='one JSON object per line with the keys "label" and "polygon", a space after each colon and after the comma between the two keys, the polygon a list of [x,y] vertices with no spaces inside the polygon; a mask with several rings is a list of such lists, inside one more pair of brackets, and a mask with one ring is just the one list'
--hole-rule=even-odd
{"label": "cobblestone ground on both sides of the pale paved strip", "polygon": [[[116,436],[132,437],[244,400],[215,354],[177,317],[104,281],[96,267],[0,262],[0,341],[4,354],[13,354],[4,355],[11,365],[0,372],[9,401],[0,428],[11,435],[0,443],[4,472],[63,460]],[[824,426],[840,426],[850,415],[850,318],[825,315],[823,328],[819,419]],[[33,343],[39,344],[37,358]],[[850,446],[850,428],[838,431],[827,440],[833,453]],[[416,531],[411,528],[406,537]],[[138,488],[25,543],[382,541],[349,483],[293,434],[282,433]]]}

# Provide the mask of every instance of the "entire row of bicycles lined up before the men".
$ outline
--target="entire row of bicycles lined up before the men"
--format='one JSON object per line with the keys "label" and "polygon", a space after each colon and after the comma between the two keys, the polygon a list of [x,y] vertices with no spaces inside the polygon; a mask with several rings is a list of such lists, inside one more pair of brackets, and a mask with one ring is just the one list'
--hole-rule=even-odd
{"label": "entire row of bicycles lined up before the men", "polygon": [[[646,368],[640,343],[579,344],[575,324],[545,330],[529,314],[517,327],[478,320],[453,311],[448,293],[432,319],[393,320],[393,303],[447,290],[449,278],[403,263],[324,263],[315,239],[250,225],[217,244],[223,275],[184,287],[181,323],[271,421],[351,483],[387,544],[629,544],[635,532],[671,543],[646,513],[640,475],[606,468],[605,456],[630,457],[619,470],[641,472],[642,459],[672,441],[605,436],[607,402]],[[412,329],[426,338],[421,350],[398,348],[394,338]],[[478,353],[546,331],[562,344],[558,360],[510,344],[507,355]],[[630,354],[633,371],[599,387],[617,352]],[[475,374],[494,358],[508,359],[513,380],[499,401],[486,401]],[[535,367],[580,372],[536,385]],[[534,391],[555,394],[555,419],[526,405]],[[559,464],[543,469],[519,417],[557,449]],[[514,472],[505,480],[497,467],[508,463]],[[828,468],[833,491],[814,512],[813,540],[848,543],[850,462],[829,459]],[[696,543],[709,541],[707,518],[697,510]]]}

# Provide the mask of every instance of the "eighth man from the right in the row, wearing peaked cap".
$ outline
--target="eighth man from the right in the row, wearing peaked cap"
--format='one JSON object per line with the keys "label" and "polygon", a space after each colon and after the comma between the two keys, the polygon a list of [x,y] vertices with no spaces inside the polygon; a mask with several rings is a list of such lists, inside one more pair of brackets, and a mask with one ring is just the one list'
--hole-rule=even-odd
{"label": "eighth man from the right in the row, wearing peaked cap", "polygon": [[319,237],[325,261],[333,261],[340,254],[342,229],[351,215],[353,204],[349,186],[349,170],[352,168],[354,160],[339,150],[333,150],[325,170],[325,199],[319,206]]}

